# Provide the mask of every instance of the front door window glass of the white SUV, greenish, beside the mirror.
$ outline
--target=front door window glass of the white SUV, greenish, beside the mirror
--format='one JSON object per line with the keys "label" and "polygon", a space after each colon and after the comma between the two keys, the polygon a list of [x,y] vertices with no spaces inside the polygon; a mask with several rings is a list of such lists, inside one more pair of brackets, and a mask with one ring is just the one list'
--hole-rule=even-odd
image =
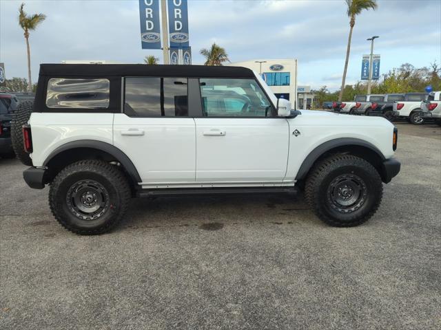
{"label": "front door window glass of the white SUV, greenish, beside the mirror", "polygon": [[254,79],[200,79],[203,115],[271,117],[271,103]]}

